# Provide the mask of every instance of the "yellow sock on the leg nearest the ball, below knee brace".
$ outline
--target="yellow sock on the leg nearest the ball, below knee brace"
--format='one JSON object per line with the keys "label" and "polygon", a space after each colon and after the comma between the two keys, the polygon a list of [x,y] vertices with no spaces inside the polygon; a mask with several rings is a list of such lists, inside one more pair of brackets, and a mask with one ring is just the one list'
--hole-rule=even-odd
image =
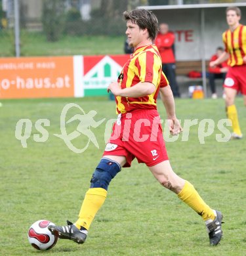
{"label": "yellow sock on the leg nearest the ball, below knee brace", "polygon": [[83,226],[89,230],[96,213],[106,200],[106,196],[107,190],[104,188],[89,188],[79,211],[79,219],[75,223],[77,228]]}

